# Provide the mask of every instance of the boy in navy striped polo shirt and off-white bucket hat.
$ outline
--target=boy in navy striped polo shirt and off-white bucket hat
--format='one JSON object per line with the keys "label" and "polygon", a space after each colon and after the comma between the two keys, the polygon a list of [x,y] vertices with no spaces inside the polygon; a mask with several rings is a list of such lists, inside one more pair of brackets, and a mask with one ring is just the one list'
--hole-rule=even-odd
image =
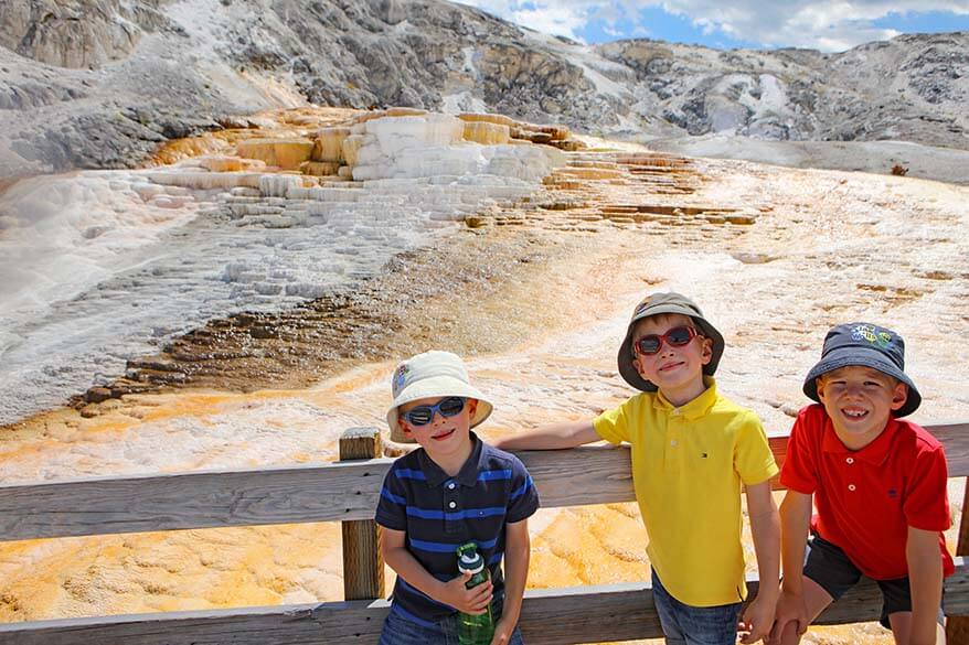
{"label": "boy in navy striped polo shirt and off-white bucket hat", "polygon": [[[517,627],[529,569],[528,518],[539,495],[524,465],[471,432],[491,404],[461,359],[425,352],[397,366],[391,429],[420,444],[394,462],[376,508],[381,551],[397,572],[380,645],[457,643],[458,611],[496,620],[492,645],[521,644]],[[473,541],[491,581],[466,589],[457,548]],[[504,573],[501,561],[504,559]]]}

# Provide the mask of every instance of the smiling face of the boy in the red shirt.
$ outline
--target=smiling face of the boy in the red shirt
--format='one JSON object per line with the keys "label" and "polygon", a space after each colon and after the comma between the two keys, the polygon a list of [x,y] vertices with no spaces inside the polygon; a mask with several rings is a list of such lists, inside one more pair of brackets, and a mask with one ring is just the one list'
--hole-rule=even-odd
{"label": "smiling face of the boy in the red shirt", "polygon": [[905,405],[908,388],[871,367],[849,365],[818,377],[818,398],[838,438],[851,450],[877,439],[892,411]]}

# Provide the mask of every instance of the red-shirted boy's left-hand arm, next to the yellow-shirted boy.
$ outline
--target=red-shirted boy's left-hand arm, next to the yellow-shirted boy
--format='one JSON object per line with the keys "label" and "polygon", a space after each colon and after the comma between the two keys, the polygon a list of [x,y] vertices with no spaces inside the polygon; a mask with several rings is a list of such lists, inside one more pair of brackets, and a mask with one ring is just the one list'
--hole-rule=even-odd
{"label": "red-shirted boy's left-hand arm, next to the yellow-shirted boy", "polygon": [[784,584],[777,600],[771,642],[780,642],[788,623],[795,623],[800,636],[808,631],[810,616],[805,604],[803,566],[808,530],[811,527],[811,495],[788,490],[780,503],[780,560]]}

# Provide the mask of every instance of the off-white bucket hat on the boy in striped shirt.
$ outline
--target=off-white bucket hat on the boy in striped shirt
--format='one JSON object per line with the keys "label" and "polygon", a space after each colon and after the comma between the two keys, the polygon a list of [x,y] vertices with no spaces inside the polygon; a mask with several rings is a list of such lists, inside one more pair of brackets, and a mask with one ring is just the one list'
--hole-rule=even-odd
{"label": "off-white bucket hat on the boy in striped shirt", "polygon": [[471,428],[491,415],[492,405],[477,388],[468,383],[468,370],[457,354],[433,350],[404,361],[394,369],[391,380],[394,402],[387,410],[387,426],[394,441],[409,441],[401,438],[397,426],[397,408],[404,404],[424,398],[465,397],[478,400],[478,408],[471,418]]}

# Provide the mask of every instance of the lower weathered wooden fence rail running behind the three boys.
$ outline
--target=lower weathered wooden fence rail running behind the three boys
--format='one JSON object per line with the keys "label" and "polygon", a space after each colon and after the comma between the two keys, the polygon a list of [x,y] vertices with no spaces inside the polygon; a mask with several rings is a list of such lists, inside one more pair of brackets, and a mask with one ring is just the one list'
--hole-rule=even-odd
{"label": "lower weathered wooden fence rail running behind the three boys", "polygon": [[[969,570],[957,559],[946,581],[950,615],[969,614]],[[756,581],[750,581],[750,595]],[[881,594],[859,584],[821,614],[819,624],[876,620]],[[242,610],[171,612],[95,619],[0,624],[0,645],[319,645],[377,642],[387,602],[350,601]],[[521,626],[530,645],[573,645],[604,639],[657,638],[659,620],[646,583],[532,590],[522,604]]]}

